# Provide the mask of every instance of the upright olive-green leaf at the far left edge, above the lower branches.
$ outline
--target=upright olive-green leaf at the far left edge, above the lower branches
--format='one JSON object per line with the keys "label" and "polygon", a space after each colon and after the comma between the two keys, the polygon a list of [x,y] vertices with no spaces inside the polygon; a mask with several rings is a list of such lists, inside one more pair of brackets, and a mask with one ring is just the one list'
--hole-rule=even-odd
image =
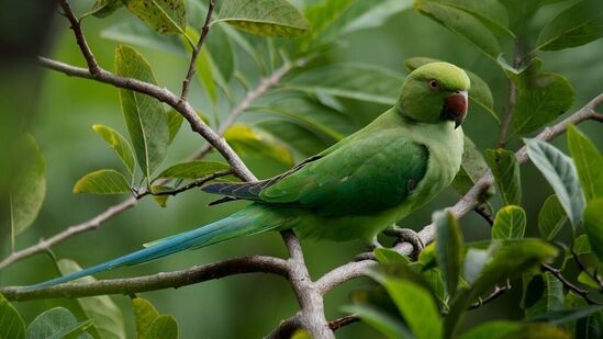
{"label": "upright olive-green leaf at the far left edge, above the lower branches", "polygon": [[13,237],[33,224],[46,195],[46,162],[37,143],[25,134],[18,140],[18,147],[21,159],[9,193]]}

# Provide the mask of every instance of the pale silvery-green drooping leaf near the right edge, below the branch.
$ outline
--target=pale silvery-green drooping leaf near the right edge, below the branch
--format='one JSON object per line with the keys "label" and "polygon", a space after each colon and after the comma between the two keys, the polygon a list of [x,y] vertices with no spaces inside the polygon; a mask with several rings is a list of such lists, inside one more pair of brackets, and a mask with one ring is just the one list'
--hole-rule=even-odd
{"label": "pale silvery-green drooping leaf near the right edge, below the branch", "polygon": [[582,223],[584,195],[580,189],[578,174],[571,158],[545,142],[538,139],[524,140],[529,159],[552,187],[572,226],[578,227]]}

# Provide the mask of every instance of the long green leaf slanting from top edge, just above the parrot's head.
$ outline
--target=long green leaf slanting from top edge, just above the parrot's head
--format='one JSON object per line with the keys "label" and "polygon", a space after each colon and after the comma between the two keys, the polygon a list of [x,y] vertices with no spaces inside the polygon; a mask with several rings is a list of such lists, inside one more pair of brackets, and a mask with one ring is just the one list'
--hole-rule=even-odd
{"label": "long green leaf slanting from top edge, just above the parrot's head", "polygon": [[472,14],[434,0],[415,0],[414,8],[454,33],[467,38],[485,55],[495,59],[501,53],[496,37]]}

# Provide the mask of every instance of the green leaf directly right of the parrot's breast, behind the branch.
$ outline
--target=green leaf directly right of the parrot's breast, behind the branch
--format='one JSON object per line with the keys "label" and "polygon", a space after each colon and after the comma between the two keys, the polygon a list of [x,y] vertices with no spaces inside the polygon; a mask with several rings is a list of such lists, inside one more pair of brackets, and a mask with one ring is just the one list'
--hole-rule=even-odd
{"label": "green leaf directly right of the parrot's breast, behind the branch", "polygon": [[[462,161],[460,162],[460,170],[455,180],[453,180],[453,188],[460,194],[469,192],[481,177],[485,174],[487,170],[488,165],[478,147],[468,136],[465,136]],[[494,189],[491,187],[484,194],[484,200],[487,200],[494,194]]]}

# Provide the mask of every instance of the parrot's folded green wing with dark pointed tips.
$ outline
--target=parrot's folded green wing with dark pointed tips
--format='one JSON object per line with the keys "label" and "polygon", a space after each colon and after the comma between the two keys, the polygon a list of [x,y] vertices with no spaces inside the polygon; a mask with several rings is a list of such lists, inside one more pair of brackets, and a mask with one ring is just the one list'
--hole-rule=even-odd
{"label": "parrot's folded green wing with dark pointed tips", "polygon": [[369,215],[401,204],[427,170],[427,148],[403,138],[397,128],[346,142],[272,179],[203,190],[322,216]]}

